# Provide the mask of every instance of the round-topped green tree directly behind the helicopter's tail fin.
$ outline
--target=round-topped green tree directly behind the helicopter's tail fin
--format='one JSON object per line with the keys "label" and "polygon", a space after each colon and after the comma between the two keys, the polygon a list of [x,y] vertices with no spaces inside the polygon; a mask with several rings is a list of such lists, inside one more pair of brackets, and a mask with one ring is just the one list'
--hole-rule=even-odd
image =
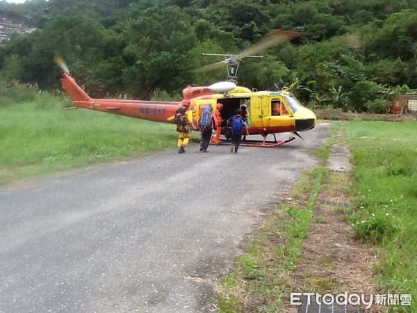
{"label": "round-topped green tree directly behind the helicopter's tail fin", "polygon": [[[112,31],[107,31],[98,22],[97,15],[79,13],[68,17],[57,17],[45,26],[39,36],[33,51],[27,56],[28,65],[36,64],[36,60],[44,56],[40,66],[43,64],[45,69],[54,68],[53,56],[60,54],[69,65],[74,77],[81,83],[88,82],[88,91],[91,95],[99,96],[103,93],[120,91],[120,88],[115,86],[120,85],[122,61],[118,58],[113,66],[117,64],[119,67],[115,66],[113,70],[110,70],[108,64],[115,61],[115,56],[120,56],[122,45]],[[106,66],[108,72],[102,72],[105,63],[108,63]],[[48,70],[48,72],[53,71]],[[44,77],[48,77],[48,74],[45,73]],[[56,77],[52,80],[59,83]]]}

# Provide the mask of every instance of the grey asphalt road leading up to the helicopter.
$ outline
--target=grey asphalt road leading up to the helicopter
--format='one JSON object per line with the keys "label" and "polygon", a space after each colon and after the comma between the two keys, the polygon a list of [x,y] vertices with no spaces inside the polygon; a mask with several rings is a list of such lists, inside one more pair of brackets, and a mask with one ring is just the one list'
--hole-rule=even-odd
{"label": "grey asphalt road leading up to the helicopter", "polygon": [[[327,124],[276,148],[173,147],[0,187],[0,312],[213,312],[256,212]],[[197,134],[194,134],[196,136]]]}

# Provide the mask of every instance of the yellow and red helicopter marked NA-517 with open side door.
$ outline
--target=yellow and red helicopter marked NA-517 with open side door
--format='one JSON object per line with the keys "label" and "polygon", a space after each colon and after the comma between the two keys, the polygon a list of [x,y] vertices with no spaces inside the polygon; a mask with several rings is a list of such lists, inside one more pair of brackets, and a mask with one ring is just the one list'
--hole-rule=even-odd
{"label": "yellow and red helicopter marked NA-517 with open side door", "polygon": [[[195,129],[199,130],[198,120],[204,108],[212,106],[215,109],[219,103],[223,105],[221,111],[222,127],[226,127],[227,119],[236,113],[236,109],[239,109],[243,104],[246,105],[248,116],[244,134],[261,135],[263,140],[247,140],[242,143],[243,145],[275,147],[295,139],[294,136],[289,136],[287,140],[277,141],[275,136],[277,133],[289,132],[301,138],[298,131],[313,129],[317,121],[316,115],[309,109],[304,108],[288,88],[279,91],[256,91],[236,86],[235,83],[238,65],[242,58],[256,57],[251,56],[251,54],[278,45],[280,42],[297,35],[299,33],[295,31],[275,30],[265,36],[258,44],[245,49],[240,54],[208,54],[224,56],[224,61],[200,67],[195,71],[203,72],[225,64],[227,66],[227,81],[213,83],[211,86],[187,86],[182,90],[183,99],[190,100],[190,110],[193,112]],[[56,56],[55,61],[63,69],[63,77],[60,79],[63,88],[72,102],[81,108],[154,122],[173,123],[175,111],[182,106],[182,102],[93,99],[71,77],[63,58]],[[274,136],[274,141],[266,141],[268,134]]]}

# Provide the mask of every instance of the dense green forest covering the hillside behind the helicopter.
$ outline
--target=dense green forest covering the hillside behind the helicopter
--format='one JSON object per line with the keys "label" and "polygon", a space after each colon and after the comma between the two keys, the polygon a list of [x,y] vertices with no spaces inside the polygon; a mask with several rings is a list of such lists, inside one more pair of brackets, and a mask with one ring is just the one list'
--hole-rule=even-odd
{"label": "dense green forest covering the hillside behind the helicopter", "polygon": [[32,0],[0,15],[36,30],[0,42],[6,81],[60,89],[60,54],[92,96],[180,99],[224,79],[193,69],[236,54],[272,29],[300,37],[244,58],[238,83],[293,86],[306,105],[382,113],[417,89],[417,0]]}

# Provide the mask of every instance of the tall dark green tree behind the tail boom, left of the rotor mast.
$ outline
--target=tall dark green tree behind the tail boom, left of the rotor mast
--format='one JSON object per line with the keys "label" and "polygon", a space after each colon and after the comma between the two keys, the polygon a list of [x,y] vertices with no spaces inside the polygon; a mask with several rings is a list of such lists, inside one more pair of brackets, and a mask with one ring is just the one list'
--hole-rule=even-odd
{"label": "tall dark green tree behind the tail boom, left of the rotor mast", "polygon": [[124,55],[135,60],[123,77],[129,93],[140,96],[145,90],[144,96],[150,97],[149,91],[171,93],[185,85],[191,70],[189,51],[196,42],[190,29],[187,15],[177,6],[149,8],[129,23],[123,33]]}

